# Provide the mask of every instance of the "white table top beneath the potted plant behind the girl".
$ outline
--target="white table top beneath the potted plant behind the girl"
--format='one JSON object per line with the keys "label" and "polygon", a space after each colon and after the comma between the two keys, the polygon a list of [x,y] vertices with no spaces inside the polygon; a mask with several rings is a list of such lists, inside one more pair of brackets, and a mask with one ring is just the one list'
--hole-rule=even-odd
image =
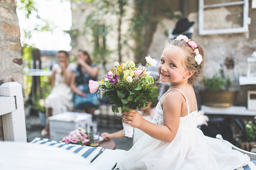
{"label": "white table top beneath the potted plant behind the girl", "polygon": [[201,110],[203,110],[205,114],[256,116],[256,111],[247,110],[245,106],[211,107],[202,105]]}

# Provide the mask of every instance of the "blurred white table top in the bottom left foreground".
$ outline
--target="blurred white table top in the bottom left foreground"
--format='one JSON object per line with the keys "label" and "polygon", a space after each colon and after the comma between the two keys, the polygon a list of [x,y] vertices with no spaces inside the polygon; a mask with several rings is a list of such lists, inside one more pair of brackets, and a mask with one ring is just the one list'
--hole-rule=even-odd
{"label": "blurred white table top in the bottom left foreground", "polygon": [[0,169],[92,169],[85,158],[60,148],[25,142],[0,141]]}

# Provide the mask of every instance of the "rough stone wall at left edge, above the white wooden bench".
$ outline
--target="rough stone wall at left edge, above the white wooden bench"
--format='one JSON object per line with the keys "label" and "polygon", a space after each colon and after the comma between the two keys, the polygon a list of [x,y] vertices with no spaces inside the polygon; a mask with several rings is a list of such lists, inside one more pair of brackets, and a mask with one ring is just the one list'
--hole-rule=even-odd
{"label": "rough stone wall at left edge, above the white wooden bench", "polygon": [[[23,85],[20,27],[16,0],[0,1],[0,85],[16,81]],[[3,139],[0,117],[0,140]]]}

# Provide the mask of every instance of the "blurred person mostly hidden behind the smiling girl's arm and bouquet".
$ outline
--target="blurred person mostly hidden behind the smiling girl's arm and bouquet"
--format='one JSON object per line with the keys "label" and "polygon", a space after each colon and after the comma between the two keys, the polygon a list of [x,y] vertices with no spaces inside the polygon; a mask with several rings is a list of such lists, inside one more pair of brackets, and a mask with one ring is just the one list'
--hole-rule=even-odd
{"label": "blurred person mostly hidden behind the smiling girl's arm and bouquet", "polygon": [[[155,106],[157,103],[158,103],[158,100],[156,100],[154,102],[149,102],[146,107],[141,108],[140,112],[139,112],[141,114],[141,116],[148,121],[153,121],[153,117],[155,115]],[[146,134],[146,133],[144,133],[140,129],[133,128],[133,138],[132,138],[133,144],[144,134]],[[105,140],[122,138],[122,137],[124,137],[124,130],[122,129],[122,130],[119,130],[114,133],[104,132],[101,134],[101,136],[104,137]]]}

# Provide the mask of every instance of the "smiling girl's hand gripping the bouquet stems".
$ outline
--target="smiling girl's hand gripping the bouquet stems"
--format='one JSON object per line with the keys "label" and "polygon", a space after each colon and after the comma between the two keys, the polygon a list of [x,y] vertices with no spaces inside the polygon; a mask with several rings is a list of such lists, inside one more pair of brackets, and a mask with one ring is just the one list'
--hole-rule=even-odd
{"label": "smiling girl's hand gripping the bouquet stems", "polygon": [[124,123],[130,124],[132,127],[136,127],[136,128],[139,128],[139,126],[143,122],[143,118],[141,117],[141,115],[134,109],[124,112],[121,117],[128,119],[128,120],[123,119],[122,121]]}

